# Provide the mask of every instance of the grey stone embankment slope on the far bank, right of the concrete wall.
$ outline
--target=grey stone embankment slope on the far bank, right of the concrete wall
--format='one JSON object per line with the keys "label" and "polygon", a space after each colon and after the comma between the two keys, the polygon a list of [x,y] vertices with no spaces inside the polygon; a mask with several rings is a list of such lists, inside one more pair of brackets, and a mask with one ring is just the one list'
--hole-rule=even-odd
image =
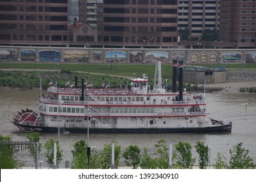
{"label": "grey stone embankment slope on the far bank, right of the concrete wall", "polygon": [[255,69],[228,69],[227,83],[256,81]]}

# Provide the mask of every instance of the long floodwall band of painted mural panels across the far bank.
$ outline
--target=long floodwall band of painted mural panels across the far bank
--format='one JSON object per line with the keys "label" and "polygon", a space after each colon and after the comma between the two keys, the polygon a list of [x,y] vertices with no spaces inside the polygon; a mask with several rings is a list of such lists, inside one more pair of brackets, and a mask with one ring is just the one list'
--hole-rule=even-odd
{"label": "long floodwall band of painted mural panels across the far bank", "polygon": [[195,49],[186,51],[174,50],[128,50],[105,51],[104,49],[76,50],[76,49],[16,49],[0,48],[0,61],[41,61],[41,62],[131,62],[154,64],[160,60],[163,64],[172,64],[173,59],[184,60],[189,63],[256,63],[256,51],[245,53],[241,51],[226,51],[220,53],[219,50],[196,51]]}

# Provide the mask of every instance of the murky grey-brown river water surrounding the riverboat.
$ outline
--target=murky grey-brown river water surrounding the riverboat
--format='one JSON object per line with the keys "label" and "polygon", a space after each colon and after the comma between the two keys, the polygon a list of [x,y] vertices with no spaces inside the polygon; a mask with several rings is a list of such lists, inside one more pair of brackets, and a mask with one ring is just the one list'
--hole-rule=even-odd
{"label": "murky grey-brown river water surrounding the riverboat", "polygon": [[[18,127],[11,123],[14,116],[21,109],[30,108],[35,102],[39,93],[37,90],[18,90],[10,88],[0,88],[0,135],[11,135],[14,141],[25,141],[25,133],[18,130]],[[155,151],[155,143],[163,138],[167,144],[175,145],[179,141],[190,142],[195,146],[197,141],[202,141],[204,144],[211,147],[211,165],[215,164],[217,152],[220,152],[224,157],[227,157],[227,144],[230,148],[240,142],[244,148],[249,149],[249,155],[256,162],[256,95],[244,93],[214,92],[206,94],[208,103],[207,112],[212,112],[212,118],[224,119],[227,122],[232,122],[232,132],[226,134],[89,134],[90,146],[96,149],[103,149],[104,144],[110,144],[115,139],[120,144],[122,151],[127,146],[133,144],[140,149],[144,147],[153,154]],[[247,105],[240,105],[248,103]],[[240,105],[238,107],[232,107]],[[227,109],[228,107],[231,107]],[[40,133],[40,142],[44,144],[47,140],[57,140],[57,133]],[[63,161],[71,161],[71,150],[73,145],[80,139],[87,140],[87,133],[61,133],[60,145],[63,149]],[[173,147],[174,148],[174,147]],[[44,149],[39,155],[39,161],[44,161]],[[27,151],[19,151],[17,157],[25,163],[25,166],[33,166],[33,160]],[[198,156],[193,147],[193,157]],[[121,161],[123,161],[121,157]],[[63,163],[64,163],[63,162]],[[63,164],[64,165],[64,164]]]}

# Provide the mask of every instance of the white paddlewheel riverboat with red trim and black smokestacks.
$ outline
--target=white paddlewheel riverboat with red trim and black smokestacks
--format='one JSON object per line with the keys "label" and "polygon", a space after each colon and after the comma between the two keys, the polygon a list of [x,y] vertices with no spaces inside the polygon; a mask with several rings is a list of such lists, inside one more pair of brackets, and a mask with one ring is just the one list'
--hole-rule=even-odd
{"label": "white paddlewheel riverboat with red trim and black smokestacks", "polygon": [[183,67],[183,61],[173,60],[172,91],[162,81],[159,61],[152,88],[146,74],[131,78],[129,88],[123,89],[109,85],[102,89],[84,88],[84,79],[78,88],[75,77],[74,88],[50,86],[46,95],[40,93],[35,109],[21,110],[12,123],[25,132],[231,132],[231,122],[208,117],[204,96],[187,94]]}

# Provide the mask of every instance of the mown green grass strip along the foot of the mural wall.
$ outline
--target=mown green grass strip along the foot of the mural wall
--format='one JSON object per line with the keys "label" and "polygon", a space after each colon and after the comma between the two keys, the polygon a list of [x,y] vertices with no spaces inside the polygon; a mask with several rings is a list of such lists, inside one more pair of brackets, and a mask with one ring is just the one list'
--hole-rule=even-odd
{"label": "mown green grass strip along the foot of the mural wall", "polygon": [[[256,69],[256,64],[194,64],[206,66],[208,68],[225,67],[231,69]],[[1,69],[41,69],[41,70],[71,70],[72,72],[103,73],[106,75],[120,75],[124,77],[139,77],[146,73],[149,77],[154,77],[155,64],[67,64],[67,63],[42,63],[42,62],[0,62]],[[172,78],[172,65],[162,64],[162,78]]]}

